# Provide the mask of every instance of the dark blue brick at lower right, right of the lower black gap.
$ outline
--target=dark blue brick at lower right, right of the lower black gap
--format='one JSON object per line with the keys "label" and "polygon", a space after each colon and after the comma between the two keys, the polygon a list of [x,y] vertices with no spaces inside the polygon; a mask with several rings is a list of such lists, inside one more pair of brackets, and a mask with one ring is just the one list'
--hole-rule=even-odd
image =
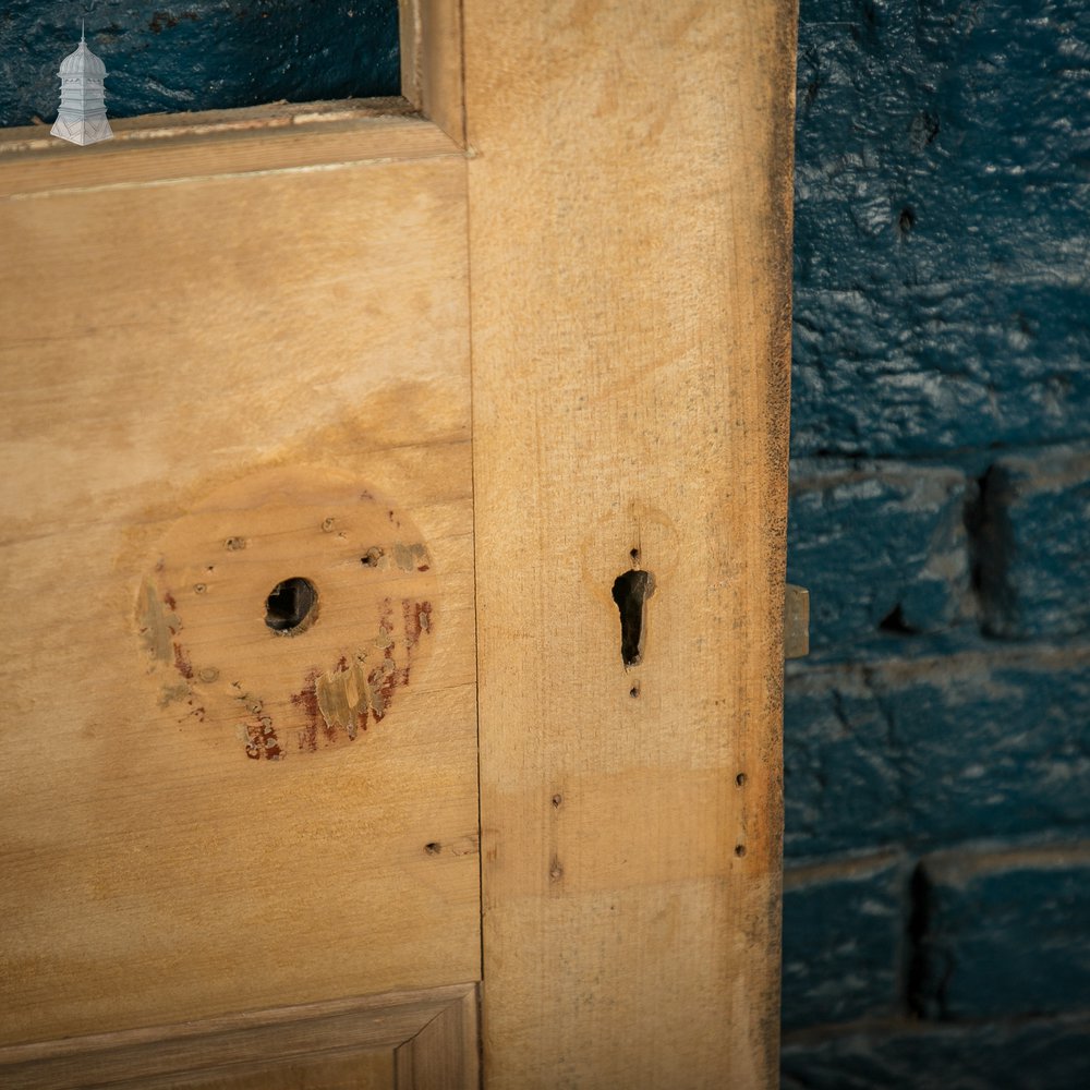
{"label": "dark blue brick at lower right, right of the lower black gap", "polygon": [[1090,844],[924,860],[913,1002],[929,1017],[1090,1009]]}

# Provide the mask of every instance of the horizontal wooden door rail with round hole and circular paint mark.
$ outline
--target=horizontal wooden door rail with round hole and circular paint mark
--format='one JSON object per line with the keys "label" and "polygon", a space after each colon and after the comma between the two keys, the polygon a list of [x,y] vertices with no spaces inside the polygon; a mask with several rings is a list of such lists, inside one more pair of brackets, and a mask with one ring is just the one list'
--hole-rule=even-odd
{"label": "horizontal wooden door rail with round hole and circular paint mark", "polygon": [[480,976],[464,162],[312,137],[0,167],[0,1043]]}

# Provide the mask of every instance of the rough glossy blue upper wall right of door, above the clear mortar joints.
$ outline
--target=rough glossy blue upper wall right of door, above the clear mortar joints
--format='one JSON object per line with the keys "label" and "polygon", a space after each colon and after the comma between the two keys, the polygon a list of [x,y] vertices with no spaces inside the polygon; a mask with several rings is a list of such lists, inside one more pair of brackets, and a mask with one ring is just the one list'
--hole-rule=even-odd
{"label": "rough glossy blue upper wall right of door, above the clear mortar joints", "polygon": [[800,19],[795,452],[1090,435],[1090,5]]}

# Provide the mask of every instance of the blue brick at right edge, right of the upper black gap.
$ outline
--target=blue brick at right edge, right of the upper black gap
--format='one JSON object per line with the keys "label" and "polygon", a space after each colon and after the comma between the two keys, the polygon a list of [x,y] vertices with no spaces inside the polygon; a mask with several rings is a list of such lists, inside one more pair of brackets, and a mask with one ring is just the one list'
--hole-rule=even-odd
{"label": "blue brick at right edge, right of the upper black gap", "polygon": [[977,536],[989,634],[1090,631],[1090,450],[996,461],[981,483]]}

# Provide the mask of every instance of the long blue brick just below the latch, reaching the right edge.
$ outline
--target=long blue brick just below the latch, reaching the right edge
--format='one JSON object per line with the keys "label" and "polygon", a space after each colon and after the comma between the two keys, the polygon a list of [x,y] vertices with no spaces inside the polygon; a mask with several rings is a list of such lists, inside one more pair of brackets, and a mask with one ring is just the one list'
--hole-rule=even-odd
{"label": "long blue brick just below the latch, reaching the right edge", "polygon": [[1090,649],[796,667],[789,858],[1090,829]]}

